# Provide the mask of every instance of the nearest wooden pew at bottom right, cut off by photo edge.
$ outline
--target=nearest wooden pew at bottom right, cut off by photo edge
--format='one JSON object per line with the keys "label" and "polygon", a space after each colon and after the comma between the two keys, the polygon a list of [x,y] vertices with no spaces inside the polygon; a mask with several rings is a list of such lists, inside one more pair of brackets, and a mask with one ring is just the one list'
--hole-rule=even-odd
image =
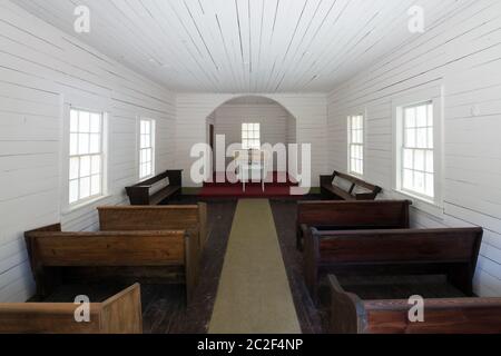
{"label": "nearest wooden pew at bottom right, cut off by photo edge", "polygon": [[328,276],[331,334],[499,334],[501,298],[424,299],[423,323],[412,323],[407,299],[362,299]]}

